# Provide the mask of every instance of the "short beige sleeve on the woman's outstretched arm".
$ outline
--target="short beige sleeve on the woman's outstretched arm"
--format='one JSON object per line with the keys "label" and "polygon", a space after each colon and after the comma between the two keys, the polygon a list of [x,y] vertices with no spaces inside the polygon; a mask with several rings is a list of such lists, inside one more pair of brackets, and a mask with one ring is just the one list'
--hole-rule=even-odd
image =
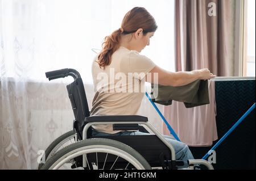
{"label": "short beige sleeve on the woman's outstretched arm", "polygon": [[148,72],[150,72],[155,64],[150,58],[139,54],[136,51],[131,51],[128,60],[128,72],[139,75],[137,78],[143,79]]}

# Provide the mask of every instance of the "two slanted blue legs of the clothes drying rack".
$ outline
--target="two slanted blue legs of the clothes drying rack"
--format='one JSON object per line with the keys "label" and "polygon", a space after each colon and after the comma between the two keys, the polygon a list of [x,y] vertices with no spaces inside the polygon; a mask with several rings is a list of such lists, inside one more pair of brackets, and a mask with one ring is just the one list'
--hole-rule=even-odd
{"label": "two slanted blue legs of the clothes drying rack", "polygon": [[[163,119],[164,123],[167,125],[167,128],[168,128],[168,130],[170,131],[170,133],[175,137],[175,139],[176,139],[177,141],[180,141],[180,139],[179,139],[179,137],[177,136],[177,134],[175,133],[174,129],[172,129],[171,125],[167,122],[167,120],[165,119],[165,117],[163,116],[163,114],[159,111],[158,107],[156,107],[155,103],[152,102],[152,99],[151,99],[150,96],[147,94],[147,92],[146,92],[146,96],[147,96],[148,100],[150,100],[150,103],[151,103],[152,106],[155,108],[155,110],[159,113],[160,117],[162,117],[162,119]],[[234,131],[234,129],[237,128],[237,126],[245,119],[245,117],[246,117],[247,115],[249,115],[249,113],[250,113],[251,111],[254,110],[254,108],[255,108],[255,103],[254,103],[253,106],[251,106],[251,107],[249,108],[249,110],[247,110],[247,111],[245,112],[245,114],[233,125],[233,127],[230,128],[229,131],[226,132],[226,134],[224,134],[224,136],[222,136],[222,137],[220,138],[220,140],[212,147],[212,149],[210,149],[210,150],[207,152],[207,154],[204,155],[204,157],[203,157],[202,159],[207,159],[208,156],[212,153],[212,151],[215,150],[215,149],[218,147],[218,145],[220,145],[221,142],[223,142],[223,141],[225,140],[225,138],[228,137],[229,134],[232,133],[232,132]]]}

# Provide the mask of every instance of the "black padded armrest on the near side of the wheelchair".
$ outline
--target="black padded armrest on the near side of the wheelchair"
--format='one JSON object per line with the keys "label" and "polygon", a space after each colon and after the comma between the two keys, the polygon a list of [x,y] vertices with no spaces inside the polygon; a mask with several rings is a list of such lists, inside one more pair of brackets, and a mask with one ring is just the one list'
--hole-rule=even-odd
{"label": "black padded armrest on the near side of the wheelchair", "polygon": [[85,118],[86,123],[112,121],[147,122],[148,120],[147,117],[138,115],[89,116]]}

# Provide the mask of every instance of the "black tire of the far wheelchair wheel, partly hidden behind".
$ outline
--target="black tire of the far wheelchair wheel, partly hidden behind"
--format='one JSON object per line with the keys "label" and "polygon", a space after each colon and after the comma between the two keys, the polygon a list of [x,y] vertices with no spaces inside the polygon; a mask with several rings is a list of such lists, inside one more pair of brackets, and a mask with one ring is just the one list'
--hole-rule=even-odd
{"label": "black tire of the far wheelchair wheel, partly hidden behind", "polygon": [[[48,146],[48,148],[46,149],[46,151],[44,152],[45,154],[45,159],[47,161],[48,157],[49,157],[49,154],[51,153],[51,151],[53,149],[56,148],[56,146],[63,140],[67,139],[68,137],[71,137],[71,136],[74,136],[75,137],[75,132],[72,131],[69,131],[67,133],[64,133],[62,134],[61,136],[57,137],[56,140],[54,140],[51,145]],[[39,163],[38,165],[38,170],[44,165],[44,163]]]}

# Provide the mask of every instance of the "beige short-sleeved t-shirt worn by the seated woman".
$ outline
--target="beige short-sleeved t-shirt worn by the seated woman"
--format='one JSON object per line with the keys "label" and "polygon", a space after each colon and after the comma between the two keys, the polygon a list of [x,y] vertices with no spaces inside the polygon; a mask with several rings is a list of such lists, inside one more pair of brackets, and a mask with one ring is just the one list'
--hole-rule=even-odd
{"label": "beige short-sleeved t-shirt worn by the seated woman", "polygon": [[[111,64],[92,64],[94,91],[91,115],[136,115],[145,95],[145,76],[155,67],[146,56],[125,47],[117,49]],[[99,132],[117,133],[113,125],[94,125]]]}

